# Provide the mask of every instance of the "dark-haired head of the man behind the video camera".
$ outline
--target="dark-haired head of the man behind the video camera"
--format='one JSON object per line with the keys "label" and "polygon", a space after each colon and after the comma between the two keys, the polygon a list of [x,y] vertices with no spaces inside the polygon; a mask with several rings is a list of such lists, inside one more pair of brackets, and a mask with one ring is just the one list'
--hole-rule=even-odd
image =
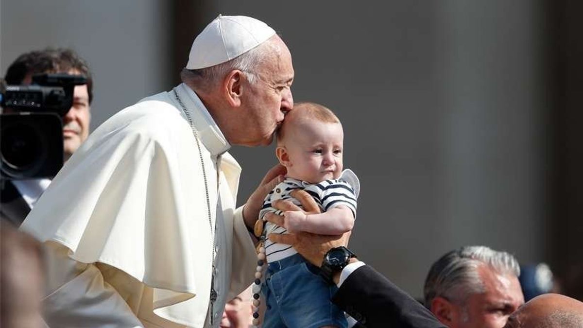
{"label": "dark-haired head of the man behind the video camera", "polygon": [[47,48],[22,54],[8,67],[5,80],[9,85],[27,85],[33,75],[65,73],[81,75],[87,84],[76,85],[73,105],[63,117],[64,158],[69,159],[89,136],[90,104],[93,100],[93,80],[87,62],[71,49]]}

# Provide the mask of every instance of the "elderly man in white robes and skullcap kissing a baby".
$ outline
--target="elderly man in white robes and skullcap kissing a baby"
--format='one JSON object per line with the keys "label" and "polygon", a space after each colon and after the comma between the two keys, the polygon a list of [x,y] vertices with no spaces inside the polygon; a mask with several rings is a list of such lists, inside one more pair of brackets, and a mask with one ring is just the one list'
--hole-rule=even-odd
{"label": "elderly man in white robes and skullcap kissing a baby", "polygon": [[231,145],[271,144],[293,107],[290,51],[257,19],[220,16],[182,83],[97,128],[22,224],[47,249],[50,327],[217,327],[254,277],[250,229],[275,166],[235,208]]}

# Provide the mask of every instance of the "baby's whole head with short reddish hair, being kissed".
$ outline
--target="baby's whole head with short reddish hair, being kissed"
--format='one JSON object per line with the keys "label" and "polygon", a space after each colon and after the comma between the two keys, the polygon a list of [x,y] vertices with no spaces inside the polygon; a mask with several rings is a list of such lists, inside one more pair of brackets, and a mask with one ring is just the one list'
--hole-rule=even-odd
{"label": "baby's whole head with short reddish hair, being kissed", "polygon": [[344,134],[331,110],[315,103],[298,103],[277,135],[275,149],[287,176],[309,183],[338,179],[342,173]]}

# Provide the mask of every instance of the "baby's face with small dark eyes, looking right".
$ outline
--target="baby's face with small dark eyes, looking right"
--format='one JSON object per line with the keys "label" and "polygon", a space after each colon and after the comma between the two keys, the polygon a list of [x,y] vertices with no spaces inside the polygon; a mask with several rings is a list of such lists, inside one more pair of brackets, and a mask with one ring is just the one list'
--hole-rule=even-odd
{"label": "baby's face with small dark eyes, looking right", "polygon": [[284,140],[289,156],[287,176],[310,183],[340,176],[344,139],[342,124],[303,120],[288,132]]}

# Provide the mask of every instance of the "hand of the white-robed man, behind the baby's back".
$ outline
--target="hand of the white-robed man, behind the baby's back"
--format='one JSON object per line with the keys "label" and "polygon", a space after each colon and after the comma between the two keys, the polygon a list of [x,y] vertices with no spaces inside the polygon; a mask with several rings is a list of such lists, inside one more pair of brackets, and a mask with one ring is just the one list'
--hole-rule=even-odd
{"label": "hand of the white-robed man, behind the baby's back", "polygon": [[283,176],[286,174],[287,170],[285,166],[278,164],[273,166],[269,172],[266,173],[261,183],[255,191],[251,194],[245,207],[243,207],[243,219],[245,225],[250,229],[253,229],[255,221],[259,218],[259,211],[263,206],[263,200],[265,196],[271,191],[278,183],[283,181]]}

